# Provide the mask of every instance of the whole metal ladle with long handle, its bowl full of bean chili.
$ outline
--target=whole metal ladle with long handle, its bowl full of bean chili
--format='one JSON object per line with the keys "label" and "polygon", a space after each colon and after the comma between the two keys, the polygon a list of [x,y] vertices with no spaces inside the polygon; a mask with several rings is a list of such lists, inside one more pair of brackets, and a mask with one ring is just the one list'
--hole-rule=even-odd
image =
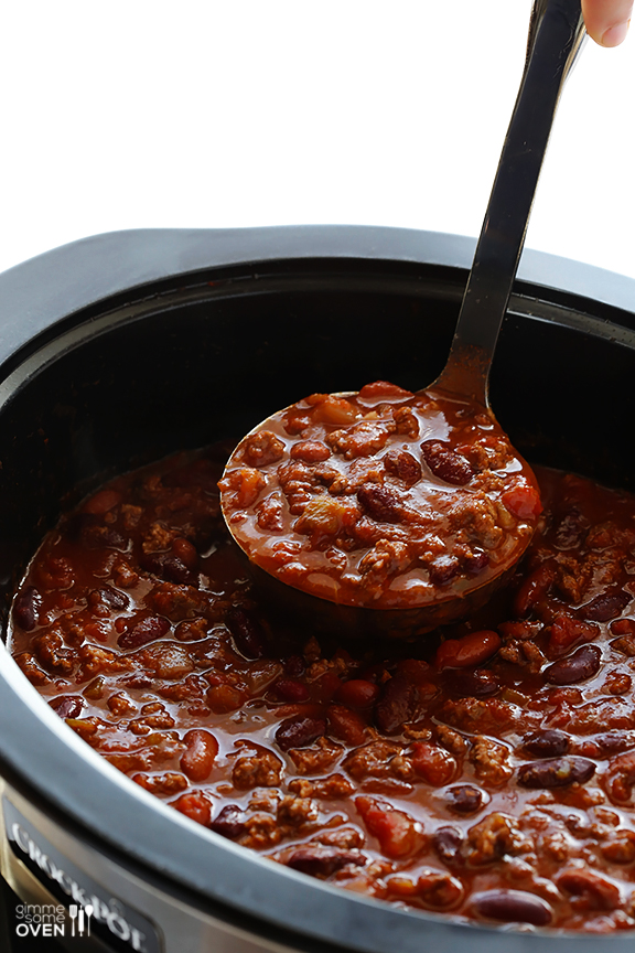
{"label": "whole metal ladle with long handle, its bowl full of bean chili", "polygon": [[540,515],[488,376],[564,81],[580,0],[536,0],[525,71],[448,363],[416,394],[313,394],[233,452],[222,505],[256,581],[318,628],[411,636],[484,604]]}

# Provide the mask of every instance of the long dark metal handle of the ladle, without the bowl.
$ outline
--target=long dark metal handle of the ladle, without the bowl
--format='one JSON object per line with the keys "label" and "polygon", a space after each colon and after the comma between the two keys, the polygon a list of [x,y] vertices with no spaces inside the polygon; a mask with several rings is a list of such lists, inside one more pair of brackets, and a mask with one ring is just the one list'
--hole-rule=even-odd
{"label": "long dark metal handle of the ladle, without the bowl", "polygon": [[435,387],[488,401],[489,365],[525,243],[553,116],[584,40],[580,0],[535,0],[527,60],[465,288]]}

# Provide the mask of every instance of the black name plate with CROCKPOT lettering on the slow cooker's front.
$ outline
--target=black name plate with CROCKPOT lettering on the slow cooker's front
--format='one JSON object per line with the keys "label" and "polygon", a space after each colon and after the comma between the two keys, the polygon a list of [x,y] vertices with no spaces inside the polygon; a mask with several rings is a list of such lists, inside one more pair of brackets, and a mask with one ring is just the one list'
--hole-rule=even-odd
{"label": "black name plate with CROCKPOT lettering on the slow cooker's front", "polygon": [[159,940],[150,921],[138,911],[107,893],[85,871],[63,857],[7,799],[2,802],[9,844],[37,877],[45,877],[47,889],[60,899],[79,907],[92,907],[92,928],[97,935],[117,942],[117,949],[136,953],[159,953]]}

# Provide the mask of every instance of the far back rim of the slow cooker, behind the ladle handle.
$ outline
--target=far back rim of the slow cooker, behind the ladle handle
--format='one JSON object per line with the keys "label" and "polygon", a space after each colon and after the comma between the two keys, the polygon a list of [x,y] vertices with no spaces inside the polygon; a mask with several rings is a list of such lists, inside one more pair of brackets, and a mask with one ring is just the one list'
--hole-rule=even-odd
{"label": "far back rim of the slow cooker, behind the ladle handle", "polygon": [[[366,225],[137,228],[88,236],[0,274],[0,367],[58,321],[168,277],[311,258],[394,260],[466,275],[475,245],[463,235]],[[523,286],[635,310],[635,279],[532,249],[520,260],[515,288]]]}

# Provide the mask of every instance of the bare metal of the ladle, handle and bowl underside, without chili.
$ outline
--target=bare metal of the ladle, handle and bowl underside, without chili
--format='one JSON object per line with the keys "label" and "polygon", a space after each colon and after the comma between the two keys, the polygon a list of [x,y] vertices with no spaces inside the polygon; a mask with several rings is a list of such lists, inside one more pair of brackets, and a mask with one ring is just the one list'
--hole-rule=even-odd
{"label": "bare metal of the ladle, handle and bowl underside, without chili", "polygon": [[[478,405],[493,420],[488,398],[489,367],[518,268],[556,108],[584,36],[580,0],[535,0],[520,88],[454,339],[444,370],[426,388],[427,393],[448,394]],[[263,421],[251,433],[266,427],[267,421]],[[244,548],[225,507],[224,513],[229,532]],[[529,542],[530,537],[513,553],[508,564],[503,563],[496,576],[485,582],[475,580],[474,587],[460,597],[445,596],[424,606],[403,609],[337,604],[286,585],[255,561],[251,561],[251,572],[273,602],[282,606],[287,613],[310,619],[313,628],[362,635],[379,631],[407,638],[454,621],[483,606],[514,571]]]}

